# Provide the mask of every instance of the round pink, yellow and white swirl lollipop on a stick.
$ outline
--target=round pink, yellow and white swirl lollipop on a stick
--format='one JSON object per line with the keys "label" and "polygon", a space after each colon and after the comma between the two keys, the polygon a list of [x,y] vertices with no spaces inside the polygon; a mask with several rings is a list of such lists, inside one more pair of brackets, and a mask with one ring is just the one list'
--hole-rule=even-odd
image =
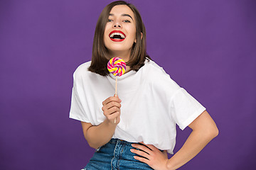
{"label": "round pink, yellow and white swirl lollipop on a stick", "polygon": [[[122,60],[119,57],[113,57],[110,59],[110,61],[107,63],[107,69],[110,73],[112,73],[116,77],[116,88],[115,88],[115,94],[114,96],[117,96],[117,77],[122,76],[126,70],[126,64],[124,60]],[[114,119],[114,123],[116,123],[117,119]]]}

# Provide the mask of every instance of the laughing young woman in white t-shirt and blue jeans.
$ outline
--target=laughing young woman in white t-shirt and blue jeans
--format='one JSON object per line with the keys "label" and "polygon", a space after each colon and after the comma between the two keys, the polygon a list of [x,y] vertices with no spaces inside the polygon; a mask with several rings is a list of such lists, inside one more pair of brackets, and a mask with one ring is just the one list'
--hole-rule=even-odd
{"label": "laughing young woman in white t-shirt and blue jeans", "polygon": [[[118,79],[107,70],[112,57],[127,63]],[[96,149],[85,169],[178,169],[218,135],[206,108],[146,55],[146,32],[132,4],[114,1],[97,21],[92,61],[74,73],[70,118],[80,120]],[[114,121],[116,120],[116,121]],[[193,131],[173,154],[176,124]]]}

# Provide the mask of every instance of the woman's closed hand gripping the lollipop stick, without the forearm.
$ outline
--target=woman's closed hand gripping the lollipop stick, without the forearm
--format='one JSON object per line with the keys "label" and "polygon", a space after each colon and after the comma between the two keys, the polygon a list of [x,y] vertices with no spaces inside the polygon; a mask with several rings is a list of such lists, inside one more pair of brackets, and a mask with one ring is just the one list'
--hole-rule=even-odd
{"label": "woman's closed hand gripping the lollipop stick, without the forearm", "polygon": [[[103,101],[102,105],[102,111],[107,120],[112,124],[118,124],[120,122],[121,99],[118,96],[112,96]],[[116,119],[115,123],[114,119]]]}

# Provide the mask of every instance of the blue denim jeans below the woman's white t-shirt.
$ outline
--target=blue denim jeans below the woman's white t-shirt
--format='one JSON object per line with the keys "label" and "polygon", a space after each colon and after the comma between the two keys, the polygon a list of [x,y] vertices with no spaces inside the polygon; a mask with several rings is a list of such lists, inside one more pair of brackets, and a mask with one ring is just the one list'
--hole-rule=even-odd
{"label": "blue denim jeans below the woman's white t-shirt", "polygon": [[134,159],[131,142],[112,139],[96,150],[90,162],[82,170],[152,169],[149,165]]}

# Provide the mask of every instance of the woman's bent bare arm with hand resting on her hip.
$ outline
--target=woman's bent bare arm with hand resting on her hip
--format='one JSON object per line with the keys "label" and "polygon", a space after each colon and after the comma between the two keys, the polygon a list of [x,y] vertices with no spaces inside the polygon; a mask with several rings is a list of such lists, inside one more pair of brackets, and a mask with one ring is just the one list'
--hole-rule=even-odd
{"label": "woman's bent bare arm with hand resting on her hip", "polygon": [[167,158],[166,152],[160,152],[153,145],[146,145],[150,149],[143,145],[132,145],[133,147],[144,150],[146,153],[136,149],[132,149],[132,152],[147,159],[142,157],[134,158],[149,164],[153,169],[178,169],[195,157],[203,147],[206,147],[210,140],[213,140],[218,135],[218,128],[207,111],[204,111],[188,126],[193,130],[191,135],[189,135],[183,147],[171,159]]}

